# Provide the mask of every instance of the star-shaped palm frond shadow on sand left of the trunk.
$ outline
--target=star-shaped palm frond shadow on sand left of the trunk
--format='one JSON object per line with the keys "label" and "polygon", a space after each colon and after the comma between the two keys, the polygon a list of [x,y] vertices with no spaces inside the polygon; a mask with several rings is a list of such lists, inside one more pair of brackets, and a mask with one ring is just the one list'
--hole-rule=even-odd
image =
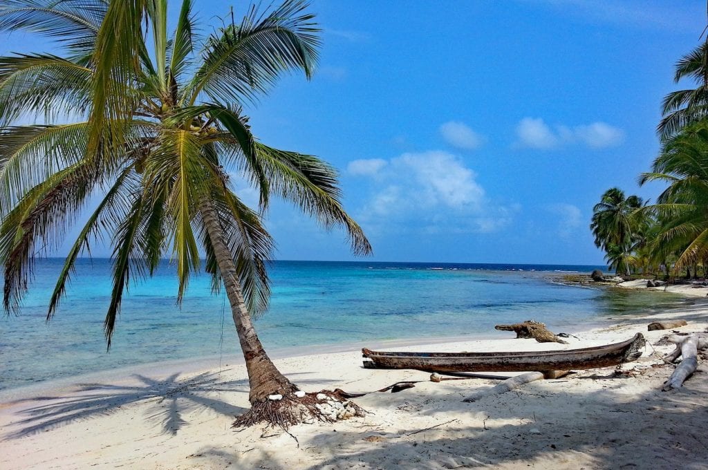
{"label": "star-shaped palm frond shadow on sand left of the trunk", "polygon": [[40,404],[23,408],[23,415],[16,425],[19,429],[5,435],[5,439],[17,439],[37,432],[51,430],[120,410],[133,403],[149,403],[146,420],[152,420],[164,434],[176,435],[187,424],[183,415],[197,408],[205,408],[222,415],[239,415],[246,408],[233,406],[215,398],[218,392],[248,393],[248,380],[222,382],[219,372],[205,372],[187,379],[179,379],[180,373],[165,379],[152,379],[135,374],[136,385],[79,384],[73,396],[39,396],[17,401]]}

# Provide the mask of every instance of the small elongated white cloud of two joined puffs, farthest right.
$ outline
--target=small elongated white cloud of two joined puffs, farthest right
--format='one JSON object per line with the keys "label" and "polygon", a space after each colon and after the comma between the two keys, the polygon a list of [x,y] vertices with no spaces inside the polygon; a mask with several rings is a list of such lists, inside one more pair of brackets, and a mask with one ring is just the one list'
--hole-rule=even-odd
{"label": "small elongated white cloud of two joined puffs, farthest right", "polygon": [[524,117],[516,127],[517,147],[554,149],[564,145],[584,144],[592,149],[615,147],[624,141],[624,131],[605,122],[552,129],[540,117]]}

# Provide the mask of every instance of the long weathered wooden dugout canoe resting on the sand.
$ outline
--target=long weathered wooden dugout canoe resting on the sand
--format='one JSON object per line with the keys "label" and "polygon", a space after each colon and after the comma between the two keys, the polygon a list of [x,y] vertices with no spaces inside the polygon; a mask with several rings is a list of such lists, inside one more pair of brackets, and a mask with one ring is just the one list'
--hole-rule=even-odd
{"label": "long weathered wooden dugout canoe resting on the sand", "polygon": [[525,372],[595,369],[632,362],[641,356],[644,336],[593,348],[527,352],[392,352],[361,350],[367,369],[426,372]]}

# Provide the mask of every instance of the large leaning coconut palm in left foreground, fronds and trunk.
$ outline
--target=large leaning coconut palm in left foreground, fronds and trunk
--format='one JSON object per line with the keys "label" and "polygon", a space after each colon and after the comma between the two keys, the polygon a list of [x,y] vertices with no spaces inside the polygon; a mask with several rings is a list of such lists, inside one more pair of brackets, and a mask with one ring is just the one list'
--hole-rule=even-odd
{"label": "large leaning coconut palm in left foreground, fronds and trunk", "polygon": [[[307,415],[297,390],[263,349],[252,318],[268,307],[265,263],[273,241],[262,224],[271,195],[290,200],[329,229],[343,227],[353,251],[370,253],[343,210],[336,172],[314,156],[258,142],[242,103],[278,76],[311,76],[319,48],[314,16],[302,0],[199,38],[183,0],[171,37],[166,0],[8,0],[0,30],[55,38],[64,57],[0,57],[0,260],[4,306],[17,311],[35,256],[56,248],[91,197],[101,196],[70,249],[50,299],[57,311],[74,261],[110,234],[113,290],[105,315],[108,348],[122,294],[176,263],[177,301],[204,268],[229,298],[251,386],[239,423],[295,423]],[[21,116],[47,124],[11,125]],[[67,120],[76,122],[64,123]],[[258,211],[234,192],[229,171],[258,188]],[[282,394],[282,401],[269,401]],[[275,409],[278,408],[278,409]]]}

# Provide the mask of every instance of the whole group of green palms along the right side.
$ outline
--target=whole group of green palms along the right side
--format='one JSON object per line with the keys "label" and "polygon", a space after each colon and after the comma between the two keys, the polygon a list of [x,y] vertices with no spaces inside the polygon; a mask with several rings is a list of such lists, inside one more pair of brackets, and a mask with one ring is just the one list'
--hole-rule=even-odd
{"label": "whole group of green palms along the right side", "polygon": [[708,38],[676,64],[675,82],[695,88],[669,93],[657,127],[661,150],[639,183],[663,181],[666,190],[649,205],[619,188],[593,208],[595,245],[617,274],[697,276],[708,269]]}

